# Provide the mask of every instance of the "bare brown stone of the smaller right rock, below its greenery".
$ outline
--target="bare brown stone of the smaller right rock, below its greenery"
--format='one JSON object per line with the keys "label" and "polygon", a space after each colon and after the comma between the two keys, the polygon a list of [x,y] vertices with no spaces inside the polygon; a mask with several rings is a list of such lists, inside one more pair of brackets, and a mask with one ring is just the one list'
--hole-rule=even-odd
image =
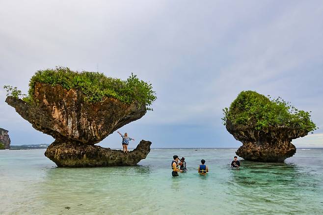
{"label": "bare brown stone of the smaller right rock, below its greenery", "polygon": [[247,161],[283,162],[296,153],[292,139],[303,137],[307,131],[286,126],[269,127],[256,130],[250,126],[235,126],[229,120],[226,122],[227,131],[242,146],[236,154]]}

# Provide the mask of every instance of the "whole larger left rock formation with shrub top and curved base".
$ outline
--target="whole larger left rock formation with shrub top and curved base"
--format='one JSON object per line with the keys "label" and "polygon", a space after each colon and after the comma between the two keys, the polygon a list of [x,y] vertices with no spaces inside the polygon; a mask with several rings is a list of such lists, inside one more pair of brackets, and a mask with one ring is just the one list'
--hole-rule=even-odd
{"label": "whole larger left rock formation with shrub top and curved base", "polygon": [[151,142],[145,140],[129,153],[94,145],[140,119],[156,99],[151,85],[136,76],[121,81],[58,67],[38,71],[29,86],[28,97],[12,93],[6,103],[33,128],[55,138],[45,156],[57,166],[135,165],[150,152]]}

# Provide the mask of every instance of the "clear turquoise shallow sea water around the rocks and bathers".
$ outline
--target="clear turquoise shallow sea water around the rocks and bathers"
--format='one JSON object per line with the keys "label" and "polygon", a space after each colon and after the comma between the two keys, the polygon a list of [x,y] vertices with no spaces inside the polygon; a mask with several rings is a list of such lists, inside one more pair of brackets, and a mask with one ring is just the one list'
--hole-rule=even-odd
{"label": "clear turquoise shallow sea water around the rocks and bathers", "polygon": [[[229,164],[235,149],[152,149],[132,167],[56,168],[45,150],[0,150],[0,214],[322,214],[323,149]],[[172,156],[188,172],[171,177]],[[201,159],[207,177],[197,174]],[[66,209],[69,207],[69,209]]]}

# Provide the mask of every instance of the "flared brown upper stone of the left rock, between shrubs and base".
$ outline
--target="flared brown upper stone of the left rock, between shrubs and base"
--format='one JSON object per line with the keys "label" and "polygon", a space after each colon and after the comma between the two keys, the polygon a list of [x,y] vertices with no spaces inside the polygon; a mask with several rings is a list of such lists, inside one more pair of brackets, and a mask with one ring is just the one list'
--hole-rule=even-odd
{"label": "flared brown upper stone of the left rock, between shrubs and base", "polygon": [[37,100],[35,106],[13,97],[7,97],[6,103],[36,130],[54,138],[64,136],[88,145],[100,142],[146,113],[144,106],[126,105],[113,98],[89,103],[80,90],[66,90],[61,85],[36,83],[34,99]]}

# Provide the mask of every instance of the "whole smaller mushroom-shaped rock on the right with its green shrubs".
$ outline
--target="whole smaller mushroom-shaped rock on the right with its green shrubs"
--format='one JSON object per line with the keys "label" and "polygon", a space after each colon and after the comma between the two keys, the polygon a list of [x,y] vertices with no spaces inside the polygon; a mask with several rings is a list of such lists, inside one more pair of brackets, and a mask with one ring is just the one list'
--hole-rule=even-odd
{"label": "whole smaller mushroom-shaped rock on the right with its green shrubs", "polygon": [[242,91],[223,110],[227,131],[243,144],[236,154],[248,161],[282,162],[296,153],[293,139],[316,129],[309,112],[254,91]]}

